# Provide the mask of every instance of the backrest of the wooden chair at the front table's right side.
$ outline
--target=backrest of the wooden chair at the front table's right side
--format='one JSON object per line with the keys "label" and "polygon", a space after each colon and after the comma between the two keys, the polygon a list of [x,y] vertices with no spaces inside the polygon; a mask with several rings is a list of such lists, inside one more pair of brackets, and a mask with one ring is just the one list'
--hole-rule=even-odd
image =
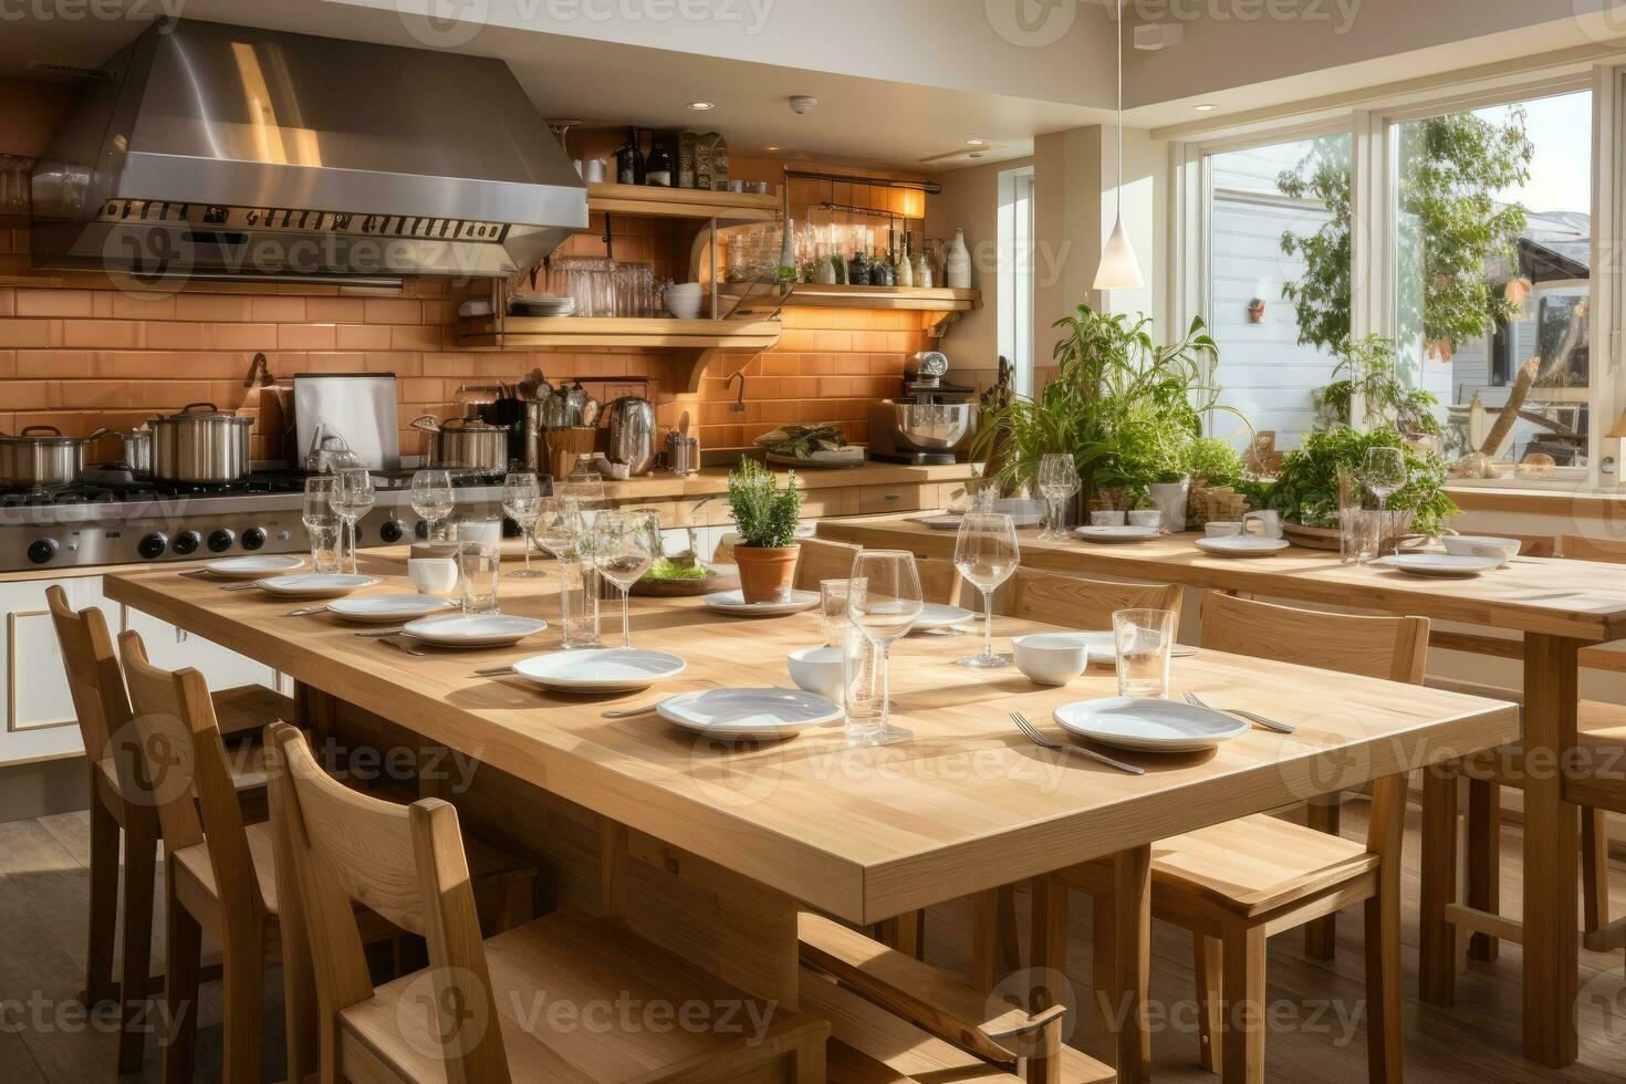
{"label": "backrest of the wooden chair at the front table's right side", "polygon": [[1206,592],[1203,647],[1421,684],[1428,618],[1361,618]]}

